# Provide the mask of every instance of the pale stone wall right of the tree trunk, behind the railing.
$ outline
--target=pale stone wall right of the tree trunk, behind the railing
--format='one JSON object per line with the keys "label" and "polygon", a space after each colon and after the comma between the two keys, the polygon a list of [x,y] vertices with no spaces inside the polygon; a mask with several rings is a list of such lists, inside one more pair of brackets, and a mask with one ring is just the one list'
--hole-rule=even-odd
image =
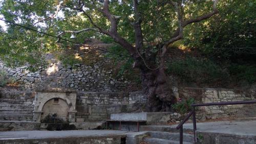
{"label": "pale stone wall right of the tree trunk, behind the railing", "polygon": [[[256,99],[256,91],[253,89],[218,89],[218,88],[182,88],[179,89],[180,98],[194,98],[196,103],[218,103],[249,101]],[[199,107],[198,113],[202,119],[224,117],[250,117],[256,116],[256,104],[250,105],[225,105]]]}

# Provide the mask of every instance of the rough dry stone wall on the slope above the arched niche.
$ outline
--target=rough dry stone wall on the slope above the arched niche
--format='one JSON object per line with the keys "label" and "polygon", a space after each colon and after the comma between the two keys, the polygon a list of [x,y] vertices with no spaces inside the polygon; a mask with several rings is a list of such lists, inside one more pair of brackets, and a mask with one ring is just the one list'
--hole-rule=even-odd
{"label": "rough dry stone wall on the slope above the arched niche", "polygon": [[5,69],[10,78],[20,83],[26,90],[65,88],[78,91],[122,91],[132,85],[124,78],[115,78],[108,59],[95,62],[93,65],[76,63],[64,66],[61,61],[48,54],[50,64],[32,73],[26,66],[10,68],[0,61],[0,69]]}

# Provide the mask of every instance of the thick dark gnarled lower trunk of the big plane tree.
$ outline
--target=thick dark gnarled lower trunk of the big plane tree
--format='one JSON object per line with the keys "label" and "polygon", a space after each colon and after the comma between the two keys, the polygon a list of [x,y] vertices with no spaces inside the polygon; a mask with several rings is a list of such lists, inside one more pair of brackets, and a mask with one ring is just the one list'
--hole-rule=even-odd
{"label": "thick dark gnarled lower trunk of the big plane tree", "polygon": [[172,111],[172,104],[176,103],[172,86],[169,85],[164,69],[141,70],[144,93],[148,98],[146,111]]}

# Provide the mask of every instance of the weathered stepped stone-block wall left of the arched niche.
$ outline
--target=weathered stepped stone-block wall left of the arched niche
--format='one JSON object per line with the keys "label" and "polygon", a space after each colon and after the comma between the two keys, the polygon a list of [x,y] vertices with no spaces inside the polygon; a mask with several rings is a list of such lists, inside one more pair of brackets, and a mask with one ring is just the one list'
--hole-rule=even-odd
{"label": "weathered stepped stone-block wall left of the arched niche", "polygon": [[0,121],[33,121],[33,98],[30,92],[1,91]]}

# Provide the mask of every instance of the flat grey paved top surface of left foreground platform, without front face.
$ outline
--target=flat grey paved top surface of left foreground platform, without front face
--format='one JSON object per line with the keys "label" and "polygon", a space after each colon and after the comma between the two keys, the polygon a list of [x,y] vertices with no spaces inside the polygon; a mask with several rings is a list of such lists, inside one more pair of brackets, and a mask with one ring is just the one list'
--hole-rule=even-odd
{"label": "flat grey paved top surface of left foreground platform, without front face", "polygon": [[7,131],[0,132],[0,139],[51,138],[71,136],[107,136],[122,135],[126,131],[117,130],[73,130],[73,131]]}

